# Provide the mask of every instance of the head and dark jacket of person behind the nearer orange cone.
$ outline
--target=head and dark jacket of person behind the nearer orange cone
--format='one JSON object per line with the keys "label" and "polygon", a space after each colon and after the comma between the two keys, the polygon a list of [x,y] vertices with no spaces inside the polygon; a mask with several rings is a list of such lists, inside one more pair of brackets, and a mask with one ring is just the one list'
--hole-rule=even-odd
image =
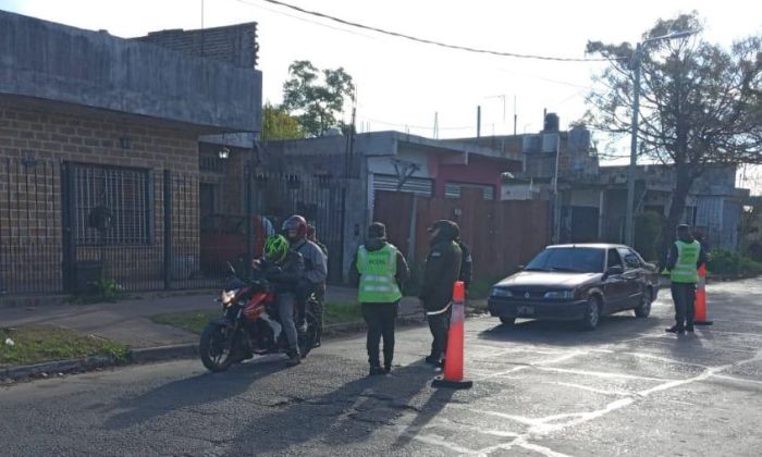
{"label": "head and dark jacket of person behind the nearer orange cone", "polygon": [[427,311],[443,309],[453,299],[453,284],[460,276],[463,257],[460,247],[455,242],[458,235],[457,225],[448,223],[441,226],[440,233],[431,240],[423,283],[418,295]]}

